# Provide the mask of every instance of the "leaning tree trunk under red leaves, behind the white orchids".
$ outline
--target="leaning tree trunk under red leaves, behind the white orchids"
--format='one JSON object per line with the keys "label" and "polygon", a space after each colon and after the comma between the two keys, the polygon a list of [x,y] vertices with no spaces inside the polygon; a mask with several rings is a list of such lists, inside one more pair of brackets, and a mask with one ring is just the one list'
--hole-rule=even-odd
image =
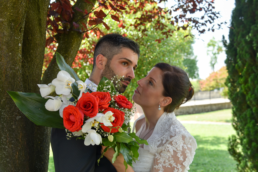
{"label": "leaning tree trunk under red leaves, behind the white orchids", "polygon": [[[90,0],[95,4],[96,0]],[[86,9],[87,11],[90,11],[93,7],[92,4],[86,3],[83,0],[77,0],[75,5],[73,6],[73,11],[75,12],[73,14],[73,21],[79,20],[84,14],[75,10],[74,8],[78,7],[79,9],[83,10]],[[88,16],[81,19],[80,21],[83,23],[87,23]],[[73,21],[70,23],[70,25],[73,25]],[[83,27],[81,22],[78,22],[80,25],[79,28]],[[83,39],[83,33],[79,33],[78,31],[73,30],[74,27],[69,31],[68,34],[63,33],[60,35],[60,39],[58,41],[58,47],[56,49],[56,52],[61,54],[64,57],[65,62],[68,65],[72,65],[73,61],[75,59],[75,56],[77,55],[77,52],[80,48],[81,41]],[[41,80],[42,84],[49,84],[52,82],[54,78],[56,78],[57,74],[59,72],[59,68],[56,64],[56,55],[52,58],[50,64],[48,65],[48,68],[44,72],[43,78]]]}

